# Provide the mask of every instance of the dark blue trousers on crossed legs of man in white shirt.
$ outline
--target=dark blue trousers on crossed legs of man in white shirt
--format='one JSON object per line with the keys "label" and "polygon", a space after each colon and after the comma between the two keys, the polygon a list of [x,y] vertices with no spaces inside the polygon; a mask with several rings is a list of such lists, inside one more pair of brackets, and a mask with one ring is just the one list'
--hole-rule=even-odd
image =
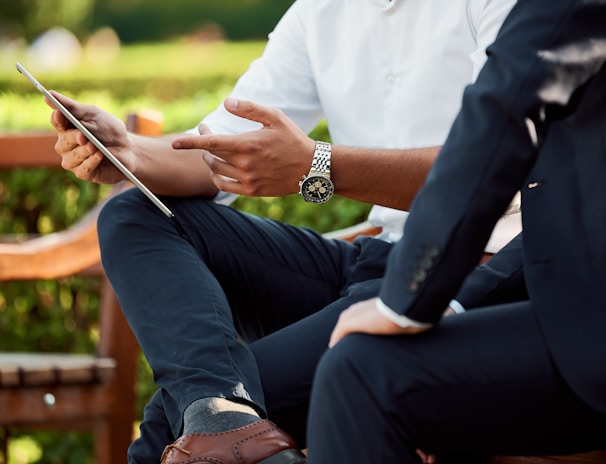
{"label": "dark blue trousers on crossed legs of man in white shirt", "polygon": [[159,460],[204,397],[248,402],[304,446],[316,363],[338,314],[377,294],[391,245],[163,200],[176,221],[135,189],[99,218],[104,268],[159,387],[129,462]]}

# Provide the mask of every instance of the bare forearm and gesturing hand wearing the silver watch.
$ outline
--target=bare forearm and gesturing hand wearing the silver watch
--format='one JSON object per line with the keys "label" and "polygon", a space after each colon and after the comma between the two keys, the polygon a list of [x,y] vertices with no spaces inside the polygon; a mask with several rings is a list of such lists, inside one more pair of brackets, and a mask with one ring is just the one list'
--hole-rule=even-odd
{"label": "bare forearm and gesturing hand wearing the silver watch", "polygon": [[[284,196],[299,192],[313,164],[314,141],[284,112],[251,101],[228,98],[225,109],[262,124],[237,135],[187,135],[175,140],[180,150],[207,150],[212,179],[223,191],[248,196]],[[423,185],[439,147],[416,149],[332,147],[331,179],[339,195],[406,210]]]}

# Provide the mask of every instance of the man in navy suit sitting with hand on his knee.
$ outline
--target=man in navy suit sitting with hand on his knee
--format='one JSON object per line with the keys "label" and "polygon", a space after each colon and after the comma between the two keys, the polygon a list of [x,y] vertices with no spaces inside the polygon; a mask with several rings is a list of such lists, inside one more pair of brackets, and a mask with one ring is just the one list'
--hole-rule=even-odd
{"label": "man in navy suit sitting with hand on his knee", "polygon": [[[606,445],[605,62],[606,1],[512,10],[379,298],[333,332],[312,393],[310,464]],[[517,190],[523,237],[471,272]],[[453,298],[467,311],[440,320]]]}

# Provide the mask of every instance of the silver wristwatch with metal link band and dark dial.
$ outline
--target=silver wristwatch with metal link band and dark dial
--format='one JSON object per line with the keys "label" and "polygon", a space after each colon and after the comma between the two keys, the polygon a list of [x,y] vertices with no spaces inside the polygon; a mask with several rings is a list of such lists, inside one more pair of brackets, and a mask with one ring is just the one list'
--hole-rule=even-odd
{"label": "silver wristwatch with metal link band and dark dial", "polygon": [[299,193],[310,203],[326,203],[331,199],[335,186],[330,180],[330,143],[316,142],[311,169],[299,181]]}

